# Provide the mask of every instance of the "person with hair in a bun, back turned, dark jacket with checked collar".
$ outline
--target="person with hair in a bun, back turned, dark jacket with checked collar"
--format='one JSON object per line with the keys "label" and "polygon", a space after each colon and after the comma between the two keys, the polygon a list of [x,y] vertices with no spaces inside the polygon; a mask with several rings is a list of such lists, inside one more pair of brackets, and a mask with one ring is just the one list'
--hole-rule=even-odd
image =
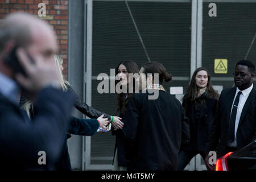
{"label": "person with hair in a bun, back turned, dark jacket with checked collar", "polygon": [[127,170],[177,170],[181,143],[189,141],[189,126],[180,102],[162,86],[172,76],[157,62],[143,64],[139,73],[142,93],[130,98],[122,129]]}

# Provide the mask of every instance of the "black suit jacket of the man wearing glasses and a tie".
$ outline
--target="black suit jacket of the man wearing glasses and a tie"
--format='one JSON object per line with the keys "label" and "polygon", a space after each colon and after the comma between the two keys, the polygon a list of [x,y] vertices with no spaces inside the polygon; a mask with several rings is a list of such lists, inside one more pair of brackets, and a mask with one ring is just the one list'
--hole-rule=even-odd
{"label": "black suit jacket of the man wearing glasses and a tie", "polygon": [[[217,151],[217,158],[225,155],[228,143],[228,125],[236,87],[224,89],[218,100],[216,119],[214,119],[208,142],[209,151]],[[237,129],[237,149],[256,139],[256,90],[251,90],[243,106]],[[219,142],[220,141],[220,142]]]}

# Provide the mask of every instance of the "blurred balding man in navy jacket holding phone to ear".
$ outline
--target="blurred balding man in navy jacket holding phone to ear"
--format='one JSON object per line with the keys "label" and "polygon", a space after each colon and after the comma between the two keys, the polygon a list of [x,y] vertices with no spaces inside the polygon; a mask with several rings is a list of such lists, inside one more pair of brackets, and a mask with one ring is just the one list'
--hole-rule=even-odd
{"label": "blurred balding man in navy jacket holding phone to ear", "polygon": [[[16,13],[1,22],[0,169],[56,169],[73,104],[60,90],[56,51],[56,35],[43,20]],[[35,103],[31,121],[19,109],[21,89]]]}

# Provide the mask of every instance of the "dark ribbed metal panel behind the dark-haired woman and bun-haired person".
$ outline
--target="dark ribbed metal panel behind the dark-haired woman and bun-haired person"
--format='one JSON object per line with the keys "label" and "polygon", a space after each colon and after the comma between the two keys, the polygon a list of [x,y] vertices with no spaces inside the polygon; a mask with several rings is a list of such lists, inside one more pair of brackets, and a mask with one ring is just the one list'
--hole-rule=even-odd
{"label": "dark ribbed metal panel behind the dark-haired woman and bun-haired person", "polygon": [[[151,61],[162,63],[173,76],[189,77],[191,55],[191,2],[130,2],[129,6],[142,36]],[[93,66],[92,75],[110,74],[124,59],[137,62],[141,67],[147,62],[142,44],[124,1],[93,2]],[[92,82],[92,106],[108,114],[115,114],[117,95],[99,94]],[[184,86],[188,81],[171,81],[164,84]],[[92,164],[112,163],[115,137],[110,134],[92,136]],[[109,157],[109,158],[108,158]]]}

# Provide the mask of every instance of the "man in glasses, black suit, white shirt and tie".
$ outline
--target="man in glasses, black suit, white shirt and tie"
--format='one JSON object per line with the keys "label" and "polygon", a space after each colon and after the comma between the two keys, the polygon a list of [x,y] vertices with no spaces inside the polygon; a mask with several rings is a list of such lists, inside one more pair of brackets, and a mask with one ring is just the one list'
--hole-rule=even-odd
{"label": "man in glasses, black suit, white shirt and tie", "polygon": [[[209,151],[217,151],[217,158],[236,151],[256,139],[256,91],[253,89],[255,67],[249,60],[236,64],[235,87],[224,89],[218,100],[208,142]],[[205,159],[209,165],[209,155]]]}

